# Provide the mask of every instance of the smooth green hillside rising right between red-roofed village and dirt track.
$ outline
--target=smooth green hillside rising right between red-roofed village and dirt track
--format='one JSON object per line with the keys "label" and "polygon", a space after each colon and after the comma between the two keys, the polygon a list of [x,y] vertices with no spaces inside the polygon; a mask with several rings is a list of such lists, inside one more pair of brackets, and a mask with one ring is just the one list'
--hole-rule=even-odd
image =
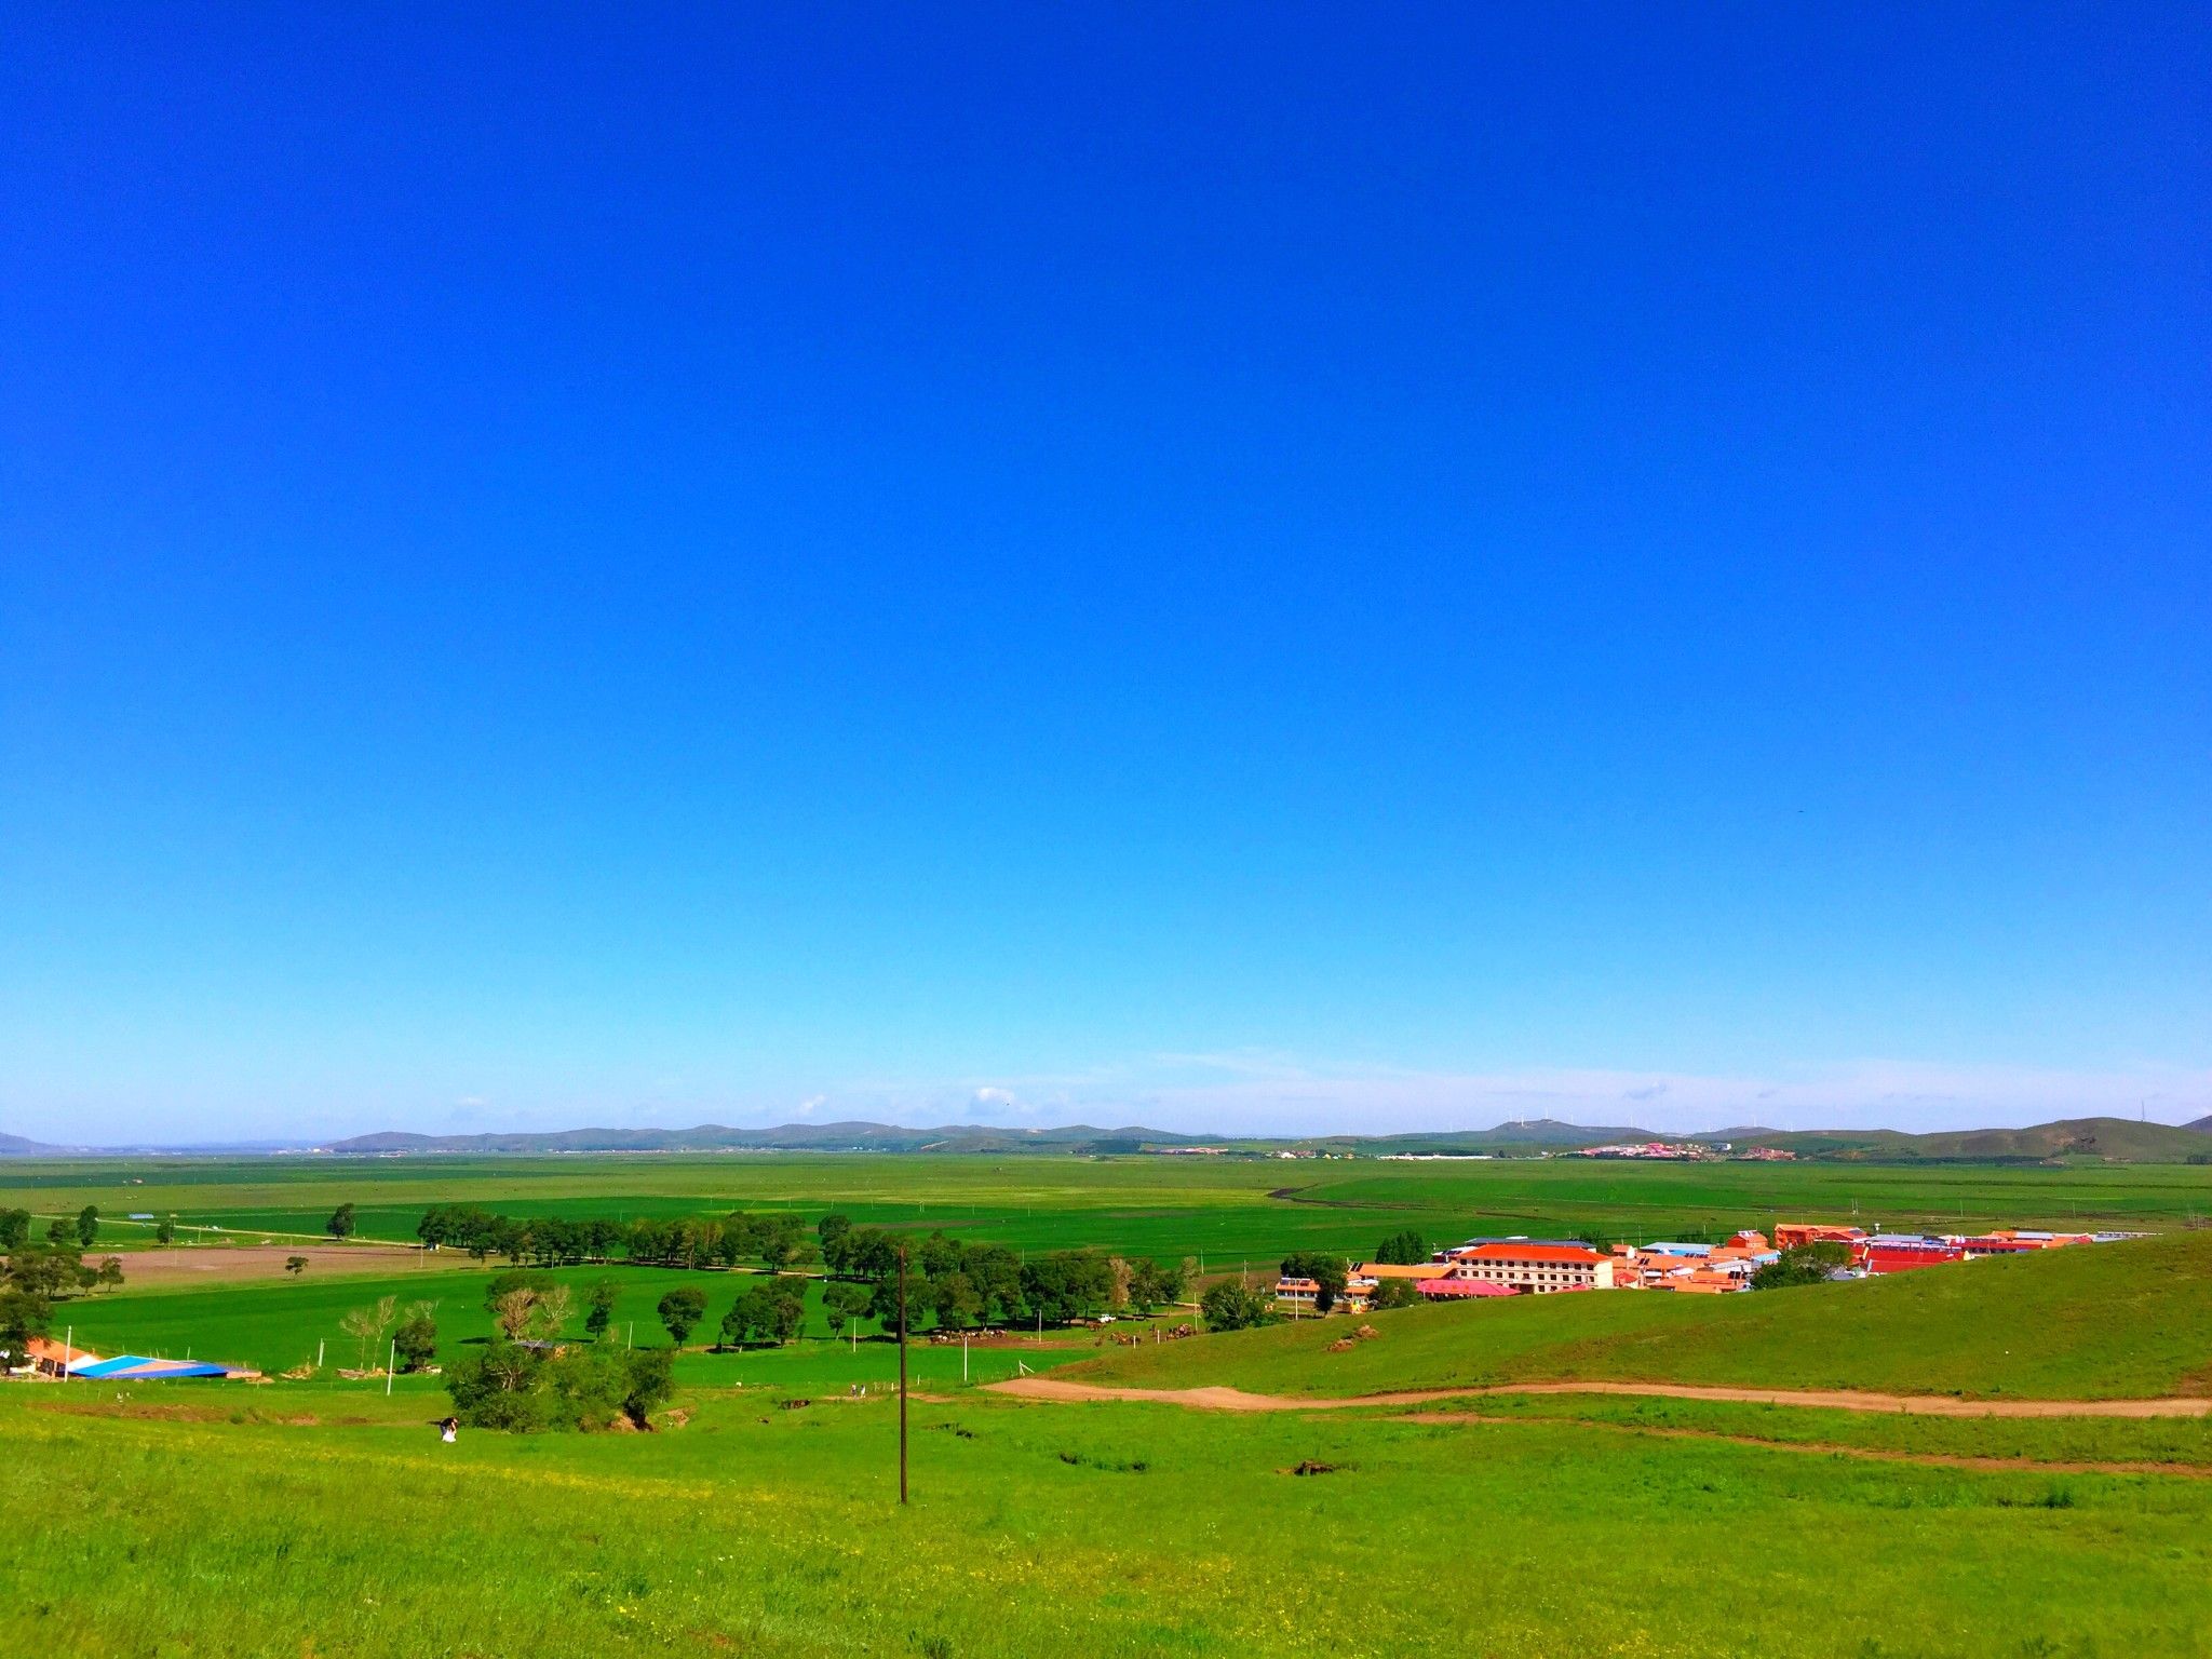
{"label": "smooth green hillside rising right between red-roofed village and dirt track", "polygon": [[1610,1292],[1376,1314],[1139,1347],[1086,1383],[1347,1396],[1650,1380],[2028,1398],[2212,1394],[2212,1232],[1750,1296]]}

